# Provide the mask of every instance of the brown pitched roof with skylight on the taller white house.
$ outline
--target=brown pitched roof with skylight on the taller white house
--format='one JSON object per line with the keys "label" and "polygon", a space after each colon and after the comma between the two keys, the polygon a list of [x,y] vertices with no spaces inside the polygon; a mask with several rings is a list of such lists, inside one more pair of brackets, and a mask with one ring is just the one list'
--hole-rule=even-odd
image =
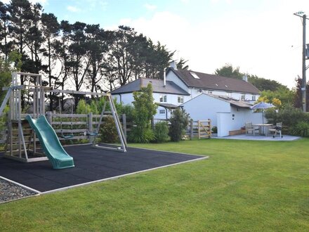
{"label": "brown pitched roof with skylight on the taller white house", "polygon": [[256,86],[240,79],[221,77],[203,72],[195,72],[192,70],[174,70],[171,67],[167,72],[175,73],[175,75],[179,77],[179,79],[181,79],[186,86],[192,88],[236,91],[250,94],[258,94],[259,92]]}

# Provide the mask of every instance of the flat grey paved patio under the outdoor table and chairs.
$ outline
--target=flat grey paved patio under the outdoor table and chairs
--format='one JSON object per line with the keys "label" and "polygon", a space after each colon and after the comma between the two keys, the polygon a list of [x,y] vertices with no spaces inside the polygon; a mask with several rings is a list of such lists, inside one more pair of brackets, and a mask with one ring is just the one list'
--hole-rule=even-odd
{"label": "flat grey paved patio under the outdoor table and chairs", "polygon": [[300,139],[299,136],[290,136],[290,135],[283,135],[283,138],[279,136],[272,138],[272,136],[260,136],[260,135],[246,135],[246,134],[237,134],[235,136],[225,136],[225,137],[211,137],[211,138],[224,138],[224,139],[240,139],[240,140],[257,140],[257,141],[295,141]]}

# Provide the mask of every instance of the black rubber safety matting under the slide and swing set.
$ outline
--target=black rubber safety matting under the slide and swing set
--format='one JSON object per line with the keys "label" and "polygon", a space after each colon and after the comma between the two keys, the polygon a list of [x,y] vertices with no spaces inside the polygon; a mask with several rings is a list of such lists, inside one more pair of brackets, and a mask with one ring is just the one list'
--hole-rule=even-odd
{"label": "black rubber safety matting under the slide and swing set", "polygon": [[22,163],[0,154],[0,176],[40,192],[98,181],[202,158],[199,155],[128,148],[126,153],[85,146],[67,146],[75,167],[53,169],[49,161]]}

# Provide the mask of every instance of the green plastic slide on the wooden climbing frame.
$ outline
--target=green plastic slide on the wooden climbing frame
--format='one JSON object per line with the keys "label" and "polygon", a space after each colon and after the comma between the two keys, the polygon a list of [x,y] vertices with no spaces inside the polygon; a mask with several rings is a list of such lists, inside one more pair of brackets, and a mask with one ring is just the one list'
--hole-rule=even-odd
{"label": "green plastic slide on the wooden climbing frame", "polygon": [[39,137],[44,153],[48,157],[48,160],[51,161],[53,169],[74,167],[73,158],[63,149],[53,127],[47,122],[44,115],[41,115],[37,119],[33,119],[30,115],[27,115],[26,120]]}

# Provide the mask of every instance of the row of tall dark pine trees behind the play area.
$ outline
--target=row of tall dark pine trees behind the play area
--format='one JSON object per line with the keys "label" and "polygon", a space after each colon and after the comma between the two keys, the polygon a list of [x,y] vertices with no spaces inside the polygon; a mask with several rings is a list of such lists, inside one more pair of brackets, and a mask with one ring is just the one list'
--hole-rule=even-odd
{"label": "row of tall dark pine trees behind the play area", "polygon": [[[20,71],[41,73],[53,88],[77,91],[110,91],[140,77],[163,78],[174,54],[131,27],[104,30],[100,25],[59,21],[29,0],[0,1],[0,42],[5,61],[11,51],[21,54]],[[185,60],[180,64],[187,67]],[[21,76],[20,82],[27,80]],[[52,108],[58,96],[48,97]]]}

